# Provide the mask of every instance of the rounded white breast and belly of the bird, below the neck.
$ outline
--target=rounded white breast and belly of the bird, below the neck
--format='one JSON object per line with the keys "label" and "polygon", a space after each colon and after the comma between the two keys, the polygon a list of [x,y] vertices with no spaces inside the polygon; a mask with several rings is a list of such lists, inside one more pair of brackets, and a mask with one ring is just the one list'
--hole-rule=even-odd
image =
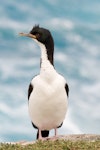
{"label": "rounded white breast and belly of the bird, below the neck", "polygon": [[61,76],[50,84],[40,76],[32,80],[34,88],[29,98],[29,115],[41,130],[56,128],[65,118],[68,102],[64,82]]}

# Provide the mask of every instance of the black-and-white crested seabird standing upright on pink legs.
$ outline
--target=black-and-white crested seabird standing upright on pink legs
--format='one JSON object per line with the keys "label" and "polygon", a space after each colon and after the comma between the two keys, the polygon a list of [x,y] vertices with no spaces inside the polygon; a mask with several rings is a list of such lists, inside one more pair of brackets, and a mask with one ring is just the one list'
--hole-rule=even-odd
{"label": "black-and-white crested seabird standing upright on pink legs", "polygon": [[33,39],[40,47],[40,72],[31,80],[28,88],[28,110],[37,139],[49,137],[54,129],[62,126],[68,109],[69,86],[66,79],[54,67],[54,40],[48,29],[33,26],[29,33],[19,33]]}

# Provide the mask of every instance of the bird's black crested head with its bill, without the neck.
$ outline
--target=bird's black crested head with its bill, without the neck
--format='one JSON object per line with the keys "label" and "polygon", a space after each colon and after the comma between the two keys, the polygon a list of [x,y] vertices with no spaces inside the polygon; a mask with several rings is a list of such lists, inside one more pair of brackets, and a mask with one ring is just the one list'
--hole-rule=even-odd
{"label": "bird's black crested head with its bill, without the neck", "polygon": [[53,43],[53,38],[50,31],[39,27],[39,25],[34,26],[29,33],[19,33],[19,34],[20,36],[26,36],[35,39],[36,41],[44,44],[45,46],[50,41]]}

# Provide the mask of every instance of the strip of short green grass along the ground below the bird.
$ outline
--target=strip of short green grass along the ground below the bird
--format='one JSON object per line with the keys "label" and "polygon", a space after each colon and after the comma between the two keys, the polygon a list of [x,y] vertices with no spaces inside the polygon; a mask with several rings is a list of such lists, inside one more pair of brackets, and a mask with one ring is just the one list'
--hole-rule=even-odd
{"label": "strip of short green grass along the ground below the bird", "polygon": [[0,150],[100,150],[100,141],[38,141],[27,146],[1,143]]}

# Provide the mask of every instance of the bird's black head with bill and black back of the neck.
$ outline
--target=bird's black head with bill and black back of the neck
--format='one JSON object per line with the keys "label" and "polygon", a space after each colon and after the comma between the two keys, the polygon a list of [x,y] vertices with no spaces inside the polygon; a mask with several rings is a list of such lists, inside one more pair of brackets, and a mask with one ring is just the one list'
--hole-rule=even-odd
{"label": "bird's black head with bill and black back of the neck", "polygon": [[[48,59],[51,64],[53,64],[53,52],[54,52],[54,41],[49,30],[39,27],[39,25],[34,26],[29,33],[19,33],[20,36],[26,36],[34,39],[38,42],[41,47],[41,44],[45,46]],[[40,44],[41,43],[41,44]]]}

